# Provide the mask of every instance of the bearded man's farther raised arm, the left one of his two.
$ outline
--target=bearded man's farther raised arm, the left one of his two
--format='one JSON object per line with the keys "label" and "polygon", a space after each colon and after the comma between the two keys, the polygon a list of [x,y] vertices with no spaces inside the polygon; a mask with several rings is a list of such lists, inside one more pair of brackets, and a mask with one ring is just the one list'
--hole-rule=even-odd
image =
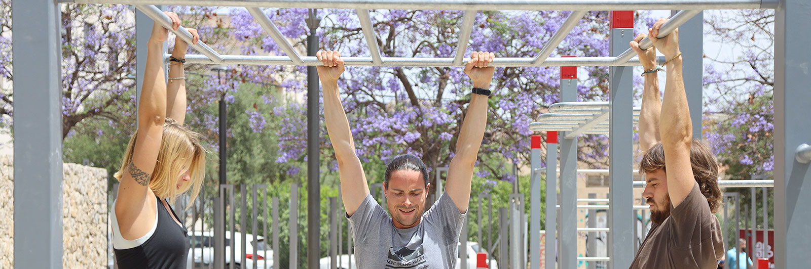
{"label": "bearded man's farther raised arm, the left one of his two", "polygon": [[645,87],[642,89],[642,111],[639,112],[639,146],[642,152],[646,152],[650,147],[661,141],[659,136],[659,113],[662,111],[662,96],[659,93],[659,72],[656,68],[656,49],[651,46],[642,50],[639,48],[639,41],[642,41],[646,34],[639,34],[631,41],[631,49],[639,55],[639,62],[642,62],[643,72],[653,70],[652,73],[644,74]]}

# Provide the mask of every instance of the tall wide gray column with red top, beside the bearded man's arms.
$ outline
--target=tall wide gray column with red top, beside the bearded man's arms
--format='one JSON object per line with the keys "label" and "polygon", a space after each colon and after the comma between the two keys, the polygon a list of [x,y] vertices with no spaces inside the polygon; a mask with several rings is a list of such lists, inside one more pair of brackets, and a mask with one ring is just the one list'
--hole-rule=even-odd
{"label": "tall wide gray column with red top, beside the bearded man's arms", "polygon": [[[611,56],[620,55],[633,41],[633,11],[611,11]],[[608,268],[627,268],[633,262],[633,66],[608,70]]]}

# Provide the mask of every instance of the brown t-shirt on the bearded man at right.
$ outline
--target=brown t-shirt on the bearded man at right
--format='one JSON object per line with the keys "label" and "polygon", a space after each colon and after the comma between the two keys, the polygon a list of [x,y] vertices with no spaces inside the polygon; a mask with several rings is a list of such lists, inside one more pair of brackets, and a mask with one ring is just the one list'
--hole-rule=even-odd
{"label": "brown t-shirt on the bearded man at right", "polygon": [[718,218],[710,212],[698,183],[670,216],[653,224],[630,268],[716,268],[723,257]]}

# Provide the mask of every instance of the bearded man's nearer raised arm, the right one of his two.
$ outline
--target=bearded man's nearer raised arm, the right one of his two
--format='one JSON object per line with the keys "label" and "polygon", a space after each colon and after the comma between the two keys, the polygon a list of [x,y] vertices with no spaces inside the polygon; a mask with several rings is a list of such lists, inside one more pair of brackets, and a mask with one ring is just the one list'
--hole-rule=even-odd
{"label": "bearded man's nearer raised arm, the right one of his two", "polygon": [[687,105],[684,79],[681,75],[679,29],[662,39],[656,38],[659,35],[659,27],[666,21],[667,19],[659,19],[654,27],[650,28],[648,38],[668,60],[665,66],[667,83],[665,83],[662,116],[659,117],[659,133],[662,135],[665,167],[667,167],[667,194],[670,195],[673,207],[678,207],[696,184],[693,167],[690,165],[693,123],[690,122],[690,109]]}

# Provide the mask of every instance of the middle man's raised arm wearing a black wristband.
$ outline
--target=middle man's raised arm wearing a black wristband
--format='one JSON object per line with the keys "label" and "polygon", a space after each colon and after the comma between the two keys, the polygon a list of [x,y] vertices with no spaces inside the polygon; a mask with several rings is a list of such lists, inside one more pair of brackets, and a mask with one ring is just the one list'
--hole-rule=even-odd
{"label": "middle man's raised arm wearing a black wristband", "polygon": [[[465,66],[465,73],[473,80],[474,88],[490,89],[495,68],[487,67],[495,55],[487,52],[470,53],[470,62]],[[482,145],[484,128],[487,126],[487,96],[470,95],[465,119],[461,123],[457,139],[456,155],[448,166],[448,181],[445,191],[459,209],[467,211],[470,203],[470,184],[473,180],[473,168],[478,159],[478,148]]]}

